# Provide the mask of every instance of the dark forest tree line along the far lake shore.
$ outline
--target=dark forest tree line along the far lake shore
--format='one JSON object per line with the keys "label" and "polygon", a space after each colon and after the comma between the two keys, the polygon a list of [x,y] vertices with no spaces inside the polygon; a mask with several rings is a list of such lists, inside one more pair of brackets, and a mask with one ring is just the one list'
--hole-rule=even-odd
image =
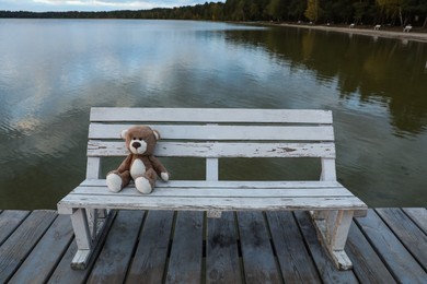
{"label": "dark forest tree line along the far lake shore", "polygon": [[278,21],[316,24],[388,24],[427,28],[426,0],[227,0],[180,8],[108,12],[0,11],[0,17],[170,19],[209,21]]}

